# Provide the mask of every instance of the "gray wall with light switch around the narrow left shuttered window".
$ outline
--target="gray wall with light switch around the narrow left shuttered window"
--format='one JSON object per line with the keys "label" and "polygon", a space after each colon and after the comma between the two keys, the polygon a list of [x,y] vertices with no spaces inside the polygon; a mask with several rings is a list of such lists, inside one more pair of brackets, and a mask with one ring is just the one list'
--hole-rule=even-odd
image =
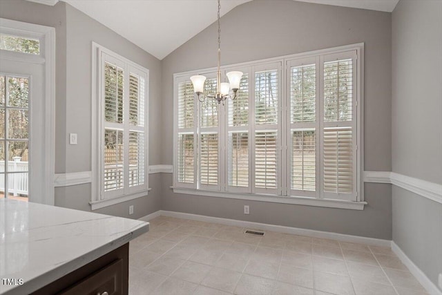
{"label": "gray wall with light switch around the narrow left shuttered window", "polygon": [[[149,70],[149,124],[151,127],[159,121],[161,109],[160,60],[146,51],[135,46],[117,33],[106,28],[101,23],[88,17],[73,6],[66,4],[66,137],[68,133],[78,133],[78,144],[70,145],[66,149],[66,172],[90,171],[91,146],[91,65],[92,41],[100,44],[115,53],[134,61]],[[149,162],[160,164],[160,148],[157,138],[160,130],[149,129]],[[160,175],[150,175],[149,186],[152,191],[146,198],[137,198],[112,207],[100,209],[99,213],[108,213],[117,216],[128,216],[128,205],[135,205],[134,215],[131,218],[140,218],[161,209],[161,186],[157,179]],[[56,204],[73,209],[90,210],[90,185],[64,187],[56,189]]]}

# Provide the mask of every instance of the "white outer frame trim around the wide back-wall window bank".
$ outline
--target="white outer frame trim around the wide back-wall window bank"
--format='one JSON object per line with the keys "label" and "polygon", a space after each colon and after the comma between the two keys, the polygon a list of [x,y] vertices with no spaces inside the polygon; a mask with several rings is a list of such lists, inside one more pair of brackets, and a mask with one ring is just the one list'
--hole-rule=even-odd
{"label": "white outer frame trim around the wide back-wall window bank", "polygon": [[[357,102],[357,108],[356,108],[356,161],[357,161],[357,167],[356,167],[356,201],[349,201],[349,200],[329,200],[329,199],[321,199],[321,198],[305,198],[305,197],[299,197],[299,196],[276,196],[276,195],[265,195],[260,193],[236,193],[232,191],[207,191],[203,189],[195,189],[195,188],[186,188],[182,187],[181,184],[178,184],[177,178],[176,178],[176,167],[177,167],[177,154],[176,154],[176,148],[177,148],[177,81],[182,80],[184,77],[190,77],[191,75],[198,75],[199,73],[211,73],[215,72],[216,68],[205,68],[200,70],[192,70],[182,73],[175,73],[173,75],[173,192],[174,193],[184,193],[187,195],[196,195],[196,196],[211,196],[211,197],[218,197],[218,198],[233,198],[233,199],[240,199],[240,200],[257,200],[262,202],[278,202],[278,203],[284,203],[284,204],[304,204],[309,206],[317,206],[317,207],[332,207],[332,208],[341,208],[341,209],[356,209],[356,210],[363,210],[364,205],[367,204],[367,202],[364,201],[364,184],[363,184],[363,171],[364,171],[364,163],[363,163],[363,81],[364,81],[364,63],[363,63],[363,57],[364,57],[364,43],[358,43],[358,44],[349,44],[346,46],[338,46],[334,48],[327,48],[327,49],[321,49],[321,50],[314,50],[307,53],[298,53],[294,55],[285,55],[282,57],[274,57],[270,59],[261,59],[258,61],[248,61],[245,63],[240,64],[230,64],[227,66],[222,66],[222,70],[226,70],[229,68],[244,68],[246,66],[260,66],[262,64],[269,64],[271,62],[281,62],[282,63],[282,70],[280,75],[280,91],[282,92],[282,97],[286,97],[287,100],[287,86],[286,86],[286,80],[287,80],[287,63],[293,59],[300,59],[300,58],[309,58],[309,57],[316,57],[318,55],[329,55],[329,54],[335,54],[335,53],[342,53],[349,50],[356,50],[357,53],[357,59],[356,59],[356,66],[357,66],[357,75],[356,75],[356,85],[358,85],[357,91],[356,91],[356,102]],[[282,99],[284,100],[284,99]],[[284,103],[284,102],[282,102]],[[289,108],[288,108],[289,109]],[[287,135],[287,128],[289,126],[286,126],[285,116],[289,115],[287,112],[282,112],[282,117],[280,120],[282,120],[282,132],[279,134],[280,137],[285,138]],[[221,139],[221,137],[220,137]],[[221,140],[225,140],[222,138]],[[282,146],[287,146],[286,140],[282,142]],[[287,151],[287,149],[286,149]],[[284,151],[284,152],[286,152]],[[224,166],[224,162],[222,162],[222,165]],[[288,165],[285,163],[280,162],[280,167],[278,169],[279,171],[287,171],[288,173]],[[223,171],[225,174],[225,171]],[[220,175],[220,178],[225,178],[225,175]],[[280,182],[282,181],[282,187],[286,188],[288,187],[287,180],[283,177],[280,177]],[[223,184],[224,185],[224,184]],[[285,191],[282,191],[282,194],[287,194],[288,192],[286,189],[283,189]]]}

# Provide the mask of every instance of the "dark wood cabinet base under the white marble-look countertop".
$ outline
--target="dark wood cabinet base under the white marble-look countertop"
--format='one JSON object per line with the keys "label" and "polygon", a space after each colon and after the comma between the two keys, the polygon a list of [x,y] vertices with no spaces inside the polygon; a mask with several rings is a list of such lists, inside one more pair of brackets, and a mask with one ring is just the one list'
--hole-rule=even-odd
{"label": "dark wood cabinet base under the white marble-look countertop", "polygon": [[93,260],[32,295],[128,295],[128,246]]}

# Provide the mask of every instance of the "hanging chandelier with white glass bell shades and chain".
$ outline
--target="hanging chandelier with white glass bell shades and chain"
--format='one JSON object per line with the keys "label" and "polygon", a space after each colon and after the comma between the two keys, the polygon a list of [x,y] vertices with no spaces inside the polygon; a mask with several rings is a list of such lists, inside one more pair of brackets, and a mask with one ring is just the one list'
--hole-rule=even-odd
{"label": "hanging chandelier with white glass bell shades and chain", "polygon": [[[240,81],[242,77],[242,72],[233,71],[227,73],[227,78],[229,79],[229,83],[224,82],[221,83],[221,70],[220,70],[220,64],[221,64],[221,29],[220,29],[220,0],[218,0],[218,71],[216,73],[216,93],[209,94],[206,97],[216,99],[218,104],[222,102],[224,105],[224,100],[231,97],[229,95],[229,91],[233,91],[233,97],[231,99],[236,98],[236,93],[238,92],[238,89],[240,88]],[[202,97],[202,93],[204,92],[204,82],[206,81],[206,77],[202,75],[195,75],[191,77],[191,81],[193,84],[193,91],[196,93],[198,100],[200,102],[204,102],[204,99],[206,97]]]}

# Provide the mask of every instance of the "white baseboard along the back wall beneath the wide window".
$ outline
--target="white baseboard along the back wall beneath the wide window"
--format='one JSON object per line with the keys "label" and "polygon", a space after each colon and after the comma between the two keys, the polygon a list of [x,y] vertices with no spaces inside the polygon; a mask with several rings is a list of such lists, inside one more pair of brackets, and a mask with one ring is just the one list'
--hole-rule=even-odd
{"label": "white baseboard along the back wall beneath the wide window", "polygon": [[343,242],[358,242],[358,243],[364,243],[367,245],[390,247],[390,242],[391,242],[390,240],[381,240],[378,238],[366,238],[366,237],[362,237],[362,236],[338,234],[338,233],[332,233],[332,232],[328,232],[328,231],[316,231],[313,229],[300,229],[297,227],[285,227],[282,225],[268,225],[268,224],[259,223],[259,222],[234,220],[234,219],[219,218],[219,217],[212,217],[212,216],[202,216],[202,215],[196,215],[196,214],[191,214],[191,213],[182,213],[182,212],[161,210],[160,214],[162,216],[169,216],[169,217],[175,217],[175,218],[198,220],[198,221],[204,221],[204,222],[213,222],[213,223],[219,223],[222,225],[233,225],[236,227],[247,227],[247,228],[251,228],[251,229],[262,229],[262,230],[267,230],[267,231],[276,231],[276,232],[285,233],[285,234],[296,234],[296,235],[300,235],[300,236],[310,236],[310,237],[314,237],[314,238],[330,238],[330,239],[334,239],[334,240],[340,240]]}

